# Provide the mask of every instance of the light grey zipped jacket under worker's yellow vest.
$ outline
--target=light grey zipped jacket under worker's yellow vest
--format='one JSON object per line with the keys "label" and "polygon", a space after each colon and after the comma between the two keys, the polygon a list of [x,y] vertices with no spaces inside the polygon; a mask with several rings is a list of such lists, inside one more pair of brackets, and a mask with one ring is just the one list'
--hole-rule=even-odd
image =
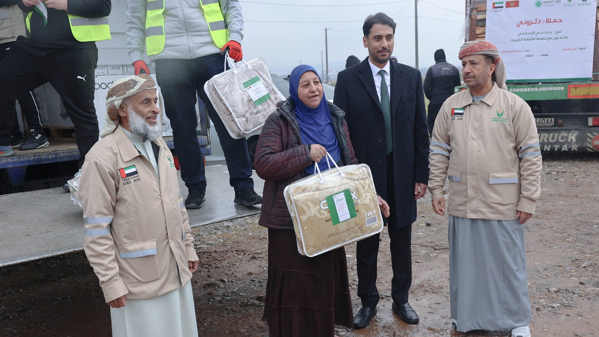
{"label": "light grey zipped jacket under worker's yellow vest", "polygon": [[[146,0],[128,0],[127,47],[131,63],[143,59],[146,45]],[[164,32],[166,42],[162,52],[151,55],[150,62],[157,59],[195,59],[216,54],[216,47],[204,11],[198,0],[164,0]],[[219,0],[225,23],[229,29],[229,41],[241,44],[243,17],[237,0]]]}

